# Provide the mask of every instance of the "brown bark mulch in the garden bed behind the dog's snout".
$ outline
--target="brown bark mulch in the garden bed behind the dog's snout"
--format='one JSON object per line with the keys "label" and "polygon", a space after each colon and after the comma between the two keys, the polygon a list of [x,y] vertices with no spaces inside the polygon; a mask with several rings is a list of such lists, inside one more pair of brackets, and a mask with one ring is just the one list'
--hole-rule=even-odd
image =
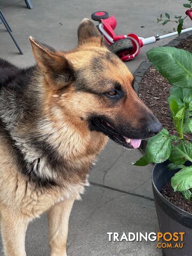
{"label": "brown bark mulch in the garden bed behind the dog's snout", "polygon": [[[183,39],[177,47],[192,52],[192,36]],[[170,87],[171,85],[167,79],[151,66],[140,83],[139,98],[153,111],[170,134],[177,134],[174,130],[169,103],[167,102]],[[192,141],[192,134],[188,133],[186,139]]]}

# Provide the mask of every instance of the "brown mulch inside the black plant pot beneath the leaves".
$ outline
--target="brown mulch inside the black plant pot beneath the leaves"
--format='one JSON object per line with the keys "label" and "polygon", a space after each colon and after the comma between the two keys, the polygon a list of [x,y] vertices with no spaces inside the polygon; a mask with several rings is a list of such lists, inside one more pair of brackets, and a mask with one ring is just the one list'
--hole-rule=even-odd
{"label": "brown mulch inside the black plant pot beneath the leaves", "polygon": [[180,209],[192,214],[192,200],[186,200],[179,191],[174,192],[171,187],[171,182],[167,182],[162,188],[162,195],[171,203],[178,206]]}

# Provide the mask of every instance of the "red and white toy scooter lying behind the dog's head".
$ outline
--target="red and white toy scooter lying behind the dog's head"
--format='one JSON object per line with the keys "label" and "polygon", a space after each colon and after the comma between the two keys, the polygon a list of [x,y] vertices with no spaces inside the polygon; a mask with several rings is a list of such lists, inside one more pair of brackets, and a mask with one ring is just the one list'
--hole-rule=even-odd
{"label": "red and white toy scooter lying behind the dog's head", "polygon": [[[192,20],[192,10],[187,10],[186,14]],[[160,39],[178,35],[178,32],[173,32],[163,36],[156,35],[148,38],[138,37],[135,34],[117,36],[114,32],[117,26],[117,21],[114,16],[111,15],[109,17],[108,12],[98,11],[92,13],[91,18],[99,21],[97,27],[110,45],[110,50],[117,54],[123,61],[135,58],[140,53],[141,47],[144,45],[153,44]],[[181,30],[181,34],[191,30],[192,28],[183,29]]]}

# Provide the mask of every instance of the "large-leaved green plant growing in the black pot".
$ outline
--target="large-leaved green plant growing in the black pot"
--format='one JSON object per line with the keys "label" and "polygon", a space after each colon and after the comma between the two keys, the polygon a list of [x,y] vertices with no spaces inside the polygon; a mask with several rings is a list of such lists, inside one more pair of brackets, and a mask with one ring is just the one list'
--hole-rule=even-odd
{"label": "large-leaved green plant growing in the black pot", "polygon": [[174,47],[158,47],[148,51],[147,56],[154,67],[170,83],[168,98],[171,117],[178,135],[171,135],[165,128],[150,138],[145,155],[134,165],[162,163],[170,160],[169,169],[181,169],[171,179],[174,191],[180,191],[190,199],[192,188],[192,143],[186,133],[192,132],[192,54]]}

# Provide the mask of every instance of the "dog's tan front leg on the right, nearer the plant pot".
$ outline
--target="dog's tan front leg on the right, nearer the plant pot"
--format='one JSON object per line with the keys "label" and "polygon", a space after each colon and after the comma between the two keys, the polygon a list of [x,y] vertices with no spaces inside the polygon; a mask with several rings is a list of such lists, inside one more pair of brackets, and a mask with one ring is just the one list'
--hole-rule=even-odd
{"label": "dog's tan front leg on the right, nearer the plant pot", "polygon": [[74,199],[65,199],[52,206],[47,213],[51,256],[67,256],[68,222],[73,203]]}

